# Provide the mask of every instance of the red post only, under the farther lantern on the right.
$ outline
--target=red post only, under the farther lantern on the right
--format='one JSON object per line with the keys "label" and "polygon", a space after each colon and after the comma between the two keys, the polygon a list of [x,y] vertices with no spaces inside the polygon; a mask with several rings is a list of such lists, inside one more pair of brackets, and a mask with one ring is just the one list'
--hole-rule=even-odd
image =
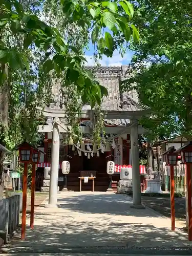
{"label": "red post only, under the farther lantern on the right", "polygon": [[172,219],[172,230],[175,230],[175,181],[174,181],[174,165],[170,165],[170,215]]}

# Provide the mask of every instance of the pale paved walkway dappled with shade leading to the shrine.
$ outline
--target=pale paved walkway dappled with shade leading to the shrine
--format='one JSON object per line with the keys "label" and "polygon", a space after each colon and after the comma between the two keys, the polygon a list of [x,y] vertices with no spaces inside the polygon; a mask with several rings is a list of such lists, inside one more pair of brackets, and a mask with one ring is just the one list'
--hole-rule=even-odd
{"label": "pale paved walkway dappled with shade leading to the shrine", "polygon": [[130,208],[132,199],[128,196],[61,192],[58,194],[60,208],[44,208],[46,203],[44,201],[35,209],[35,227],[34,230],[28,228],[26,241],[16,237],[5,248],[6,255],[55,255],[64,252],[69,253],[64,255],[78,255],[70,252],[149,255],[156,251],[165,254],[163,249],[173,248],[186,249],[182,255],[191,254],[188,249],[192,242],[187,241],[187,234],[180,224],[177,224],[175,232],[171,231],[170,220],[150,208]]}

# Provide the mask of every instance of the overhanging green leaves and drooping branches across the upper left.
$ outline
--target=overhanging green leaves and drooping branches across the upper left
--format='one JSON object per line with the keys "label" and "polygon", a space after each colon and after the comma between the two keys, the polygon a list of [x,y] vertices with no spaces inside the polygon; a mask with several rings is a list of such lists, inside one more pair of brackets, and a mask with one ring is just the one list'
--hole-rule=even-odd
{"label": "overhanging green leaves and drooping branches across the upper left", "polygon": [[9,112],[1,120],[1,141],[11,148],[20,139],[35,142],[37,107],[51,101],[53,78],[92,107],[107,95],[84,68],[90,37],[97,58],[136,42],[139,32],[126,0],[0,0],[0,5],[0,82]]}

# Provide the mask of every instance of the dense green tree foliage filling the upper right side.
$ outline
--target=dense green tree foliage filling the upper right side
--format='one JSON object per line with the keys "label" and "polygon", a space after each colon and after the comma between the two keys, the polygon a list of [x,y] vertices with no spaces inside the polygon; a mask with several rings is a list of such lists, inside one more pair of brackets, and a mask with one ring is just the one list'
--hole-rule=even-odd
{"label": "dense green tree foliage filling the upper right side", "polygon": [[133,2],[141,41],[135,51],[134,76],[123,85],[135,89],[152,117],[141,122],[159,138],[191,137],[191,2],[183,0]]}

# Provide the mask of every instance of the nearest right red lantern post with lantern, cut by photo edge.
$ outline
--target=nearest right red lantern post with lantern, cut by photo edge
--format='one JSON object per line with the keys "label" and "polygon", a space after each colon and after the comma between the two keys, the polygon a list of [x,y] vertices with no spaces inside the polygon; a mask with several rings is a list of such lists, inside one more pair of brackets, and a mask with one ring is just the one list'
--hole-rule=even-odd
{"label": "nearest right red lantern post with lantern, cut by photo edge", "polygon": [[192,164],[192,141],[178,150],[181,154],[182,163],[186,164],[187,178],[187,212],[188,212],[188,240],[192,241],[192,209],[191,209],[191,164]]}

